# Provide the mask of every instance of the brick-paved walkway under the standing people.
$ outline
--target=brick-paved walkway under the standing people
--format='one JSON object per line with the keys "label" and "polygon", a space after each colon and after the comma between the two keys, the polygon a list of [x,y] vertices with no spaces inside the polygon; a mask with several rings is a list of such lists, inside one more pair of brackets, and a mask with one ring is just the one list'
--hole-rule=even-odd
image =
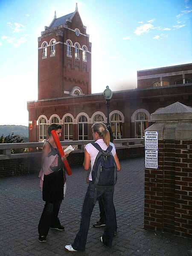
{"label": "brick-paved walkway under the standing people", "polygon": [[143,229],[144,158],[124,160],[121,165],[122,171],[118,173],[114,194],[118,233],[111,249],[105,248],[99,240],[104,227],[92,227],[99,219],[99,206],[96,203],[85,252],[70,253],[64,250],[64,245],[73,242],[79,230],[81,207],[87,188],[86,172],[79,167],[72,169],[72,176],[67,176],[67,195],[59,213],[65,231],[50,230],[46,243],[38,241],[37,226],[44,207],[38,172],[0,179],[0,255],[192,255],[192,240]]}

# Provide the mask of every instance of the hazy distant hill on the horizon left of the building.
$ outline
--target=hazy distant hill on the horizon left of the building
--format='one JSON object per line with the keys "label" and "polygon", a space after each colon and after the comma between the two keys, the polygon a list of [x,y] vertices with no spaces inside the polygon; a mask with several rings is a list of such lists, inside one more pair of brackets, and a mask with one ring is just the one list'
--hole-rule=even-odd
{"label": "hazy distant hill on the horizon left of the building", "polygon": [[6,137],[9,134],[19,135],[21,138],[29,137],[28,126],[23,125],[0,125],[0,136]]}

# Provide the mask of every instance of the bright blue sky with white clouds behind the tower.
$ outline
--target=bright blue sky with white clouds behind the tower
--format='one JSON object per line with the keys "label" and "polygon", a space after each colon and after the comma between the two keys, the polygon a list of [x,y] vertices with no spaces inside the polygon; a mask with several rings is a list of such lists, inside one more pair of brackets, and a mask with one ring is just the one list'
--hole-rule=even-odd
{"label": "bright blue sky with white clouds behind the tower", "polygon": [[28,126],[38,37],[78,10],[92,43],[92,93],[137,88],[137,71],[192,63],[192,0],[0,0],[0,125]]}

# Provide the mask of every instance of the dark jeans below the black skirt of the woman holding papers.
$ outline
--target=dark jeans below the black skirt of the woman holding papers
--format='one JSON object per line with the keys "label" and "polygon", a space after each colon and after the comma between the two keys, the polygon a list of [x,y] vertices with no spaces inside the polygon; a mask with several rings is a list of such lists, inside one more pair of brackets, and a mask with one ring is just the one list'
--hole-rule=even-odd
{"label": "dark jeans below the black skirt of the woman holding papers", "polygon": [[39,236],[47,236],[50,227],[59,227],[61,226],[58,212],[61,206],[62,200],[56,201],[55,204],[46,202],[39,224],[38,232]]}

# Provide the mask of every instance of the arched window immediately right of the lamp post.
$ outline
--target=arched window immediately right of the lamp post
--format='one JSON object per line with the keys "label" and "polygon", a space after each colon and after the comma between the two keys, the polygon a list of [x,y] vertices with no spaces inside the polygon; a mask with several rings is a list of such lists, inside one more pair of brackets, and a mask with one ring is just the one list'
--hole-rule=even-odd
{"label": "arched window immediately right of the lamp post", "polygon": [[114,139],[122,139],[122,118],[117,113],[111,116],[111,130]]}

